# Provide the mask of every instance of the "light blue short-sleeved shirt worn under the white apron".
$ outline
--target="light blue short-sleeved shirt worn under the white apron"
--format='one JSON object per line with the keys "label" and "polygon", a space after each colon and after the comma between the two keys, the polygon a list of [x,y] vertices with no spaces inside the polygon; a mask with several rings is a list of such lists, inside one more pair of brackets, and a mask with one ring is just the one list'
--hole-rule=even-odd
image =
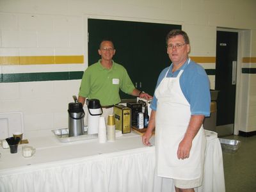
{"label": "light blue short-sleeved shirt worn under the white apron", "polygon": [[[170,70],[169,70],[170,68]],[[168,71],[166,77],[177,77],[180,70],[184,70],[180,76],[180,88],[184,97],[190,104],[191,115],[204,115],[210,116],[211,95],[210,95],[210,82],[204,68],[194,61],[188,60],[179,70],[172,72],[173,64],[162,70],[157,80],[157,86],[161,83]],[[157,98],[154,95],[150,108],[154,111],[157,110]]]}

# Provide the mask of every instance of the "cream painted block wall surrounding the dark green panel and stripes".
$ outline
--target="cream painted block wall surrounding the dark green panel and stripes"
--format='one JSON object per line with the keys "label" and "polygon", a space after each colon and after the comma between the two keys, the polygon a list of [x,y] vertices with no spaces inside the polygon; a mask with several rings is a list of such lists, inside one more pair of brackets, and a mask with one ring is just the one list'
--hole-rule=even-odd
{"label": "cream painted block wall surrounding the dark green panel and stripes", "polygon": [[[232,3],[232,9],[230,9]],[[216,56],[216,29],[244,30],[241,58],[256,56],[256,1],[0,0],[0,56],[83,56],[83,63],[0,65],[0,74],[83,71],[88,66],[87,19],[180,24],[190,56]],[[250,31],[249,33],[246,31]],[[200,63],[205,69],[215,63]],[[240,67],[255,63],[242,63]],[[241,70],[241,68],[239,68]],[[241,74],[239,130],[255,131],[255,74]],[[214,88],[214,76],[209,76]],[[27,136],[67,127],[67,104],[81,80],[0,83],[0,113],[21,111]]]}

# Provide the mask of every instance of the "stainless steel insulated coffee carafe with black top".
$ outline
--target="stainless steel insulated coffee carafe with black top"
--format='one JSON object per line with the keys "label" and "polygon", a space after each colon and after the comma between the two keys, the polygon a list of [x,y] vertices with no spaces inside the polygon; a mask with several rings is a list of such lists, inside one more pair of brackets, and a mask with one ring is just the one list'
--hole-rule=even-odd
{"label": "stainless steel insulated coffee carafe with black top", "polygon": [[83,104],[78,102],[76,96],[73,96],[75,102],[68,104],[68,136],[79,136],[84,134],[84,109]]}

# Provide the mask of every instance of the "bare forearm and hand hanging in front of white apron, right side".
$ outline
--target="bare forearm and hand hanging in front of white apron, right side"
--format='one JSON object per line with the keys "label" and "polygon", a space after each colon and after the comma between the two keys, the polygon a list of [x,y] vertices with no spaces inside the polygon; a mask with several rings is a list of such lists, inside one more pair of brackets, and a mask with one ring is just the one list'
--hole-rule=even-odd
{"label": "bare forearm and hand hanging in front of white apron, right side", "polygon": [[192,147],[192,141],[204,122],[204,115],[192,115],[189,121],[188,129],[182,141],[180,141],[177,150],[178,159],[186,159]]}

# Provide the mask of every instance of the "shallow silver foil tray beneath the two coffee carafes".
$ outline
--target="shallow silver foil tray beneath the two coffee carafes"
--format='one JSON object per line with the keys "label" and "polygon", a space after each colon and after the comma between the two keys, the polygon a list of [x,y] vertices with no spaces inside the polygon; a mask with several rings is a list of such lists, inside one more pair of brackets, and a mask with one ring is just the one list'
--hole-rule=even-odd
{"label": "shallow silver foil tray beneath the two coffee carafes", "polygon": [[84,126],[84,134],[68,137],[68,128],[52,130],[53,134],[61,143],[70,143],[74,141],[92,140],[98,138],[98,134],[87,134],[87,126]]}

